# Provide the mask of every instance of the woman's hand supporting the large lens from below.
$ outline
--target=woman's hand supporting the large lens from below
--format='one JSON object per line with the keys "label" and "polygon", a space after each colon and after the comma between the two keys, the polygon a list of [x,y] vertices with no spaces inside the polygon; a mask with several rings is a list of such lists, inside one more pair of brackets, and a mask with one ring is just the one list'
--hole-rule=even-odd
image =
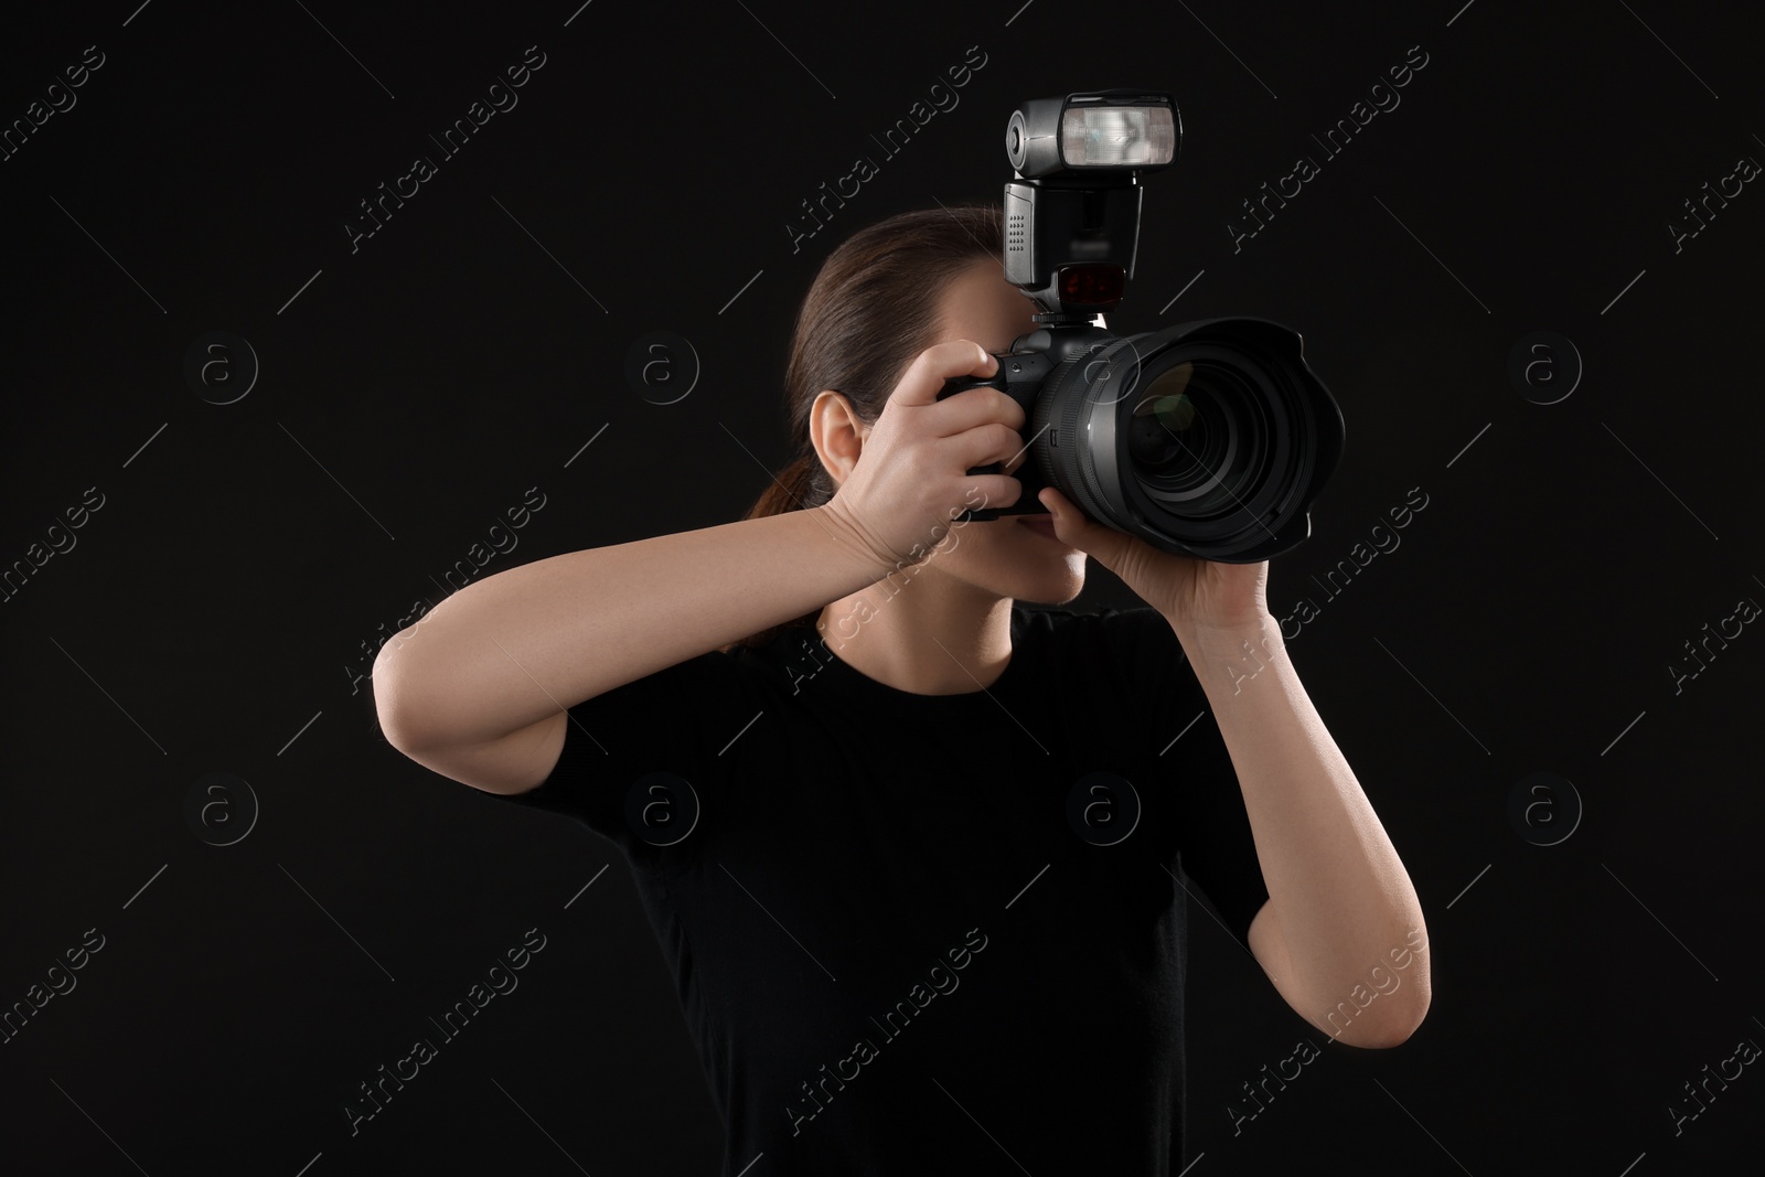
{"label": "woman's hand supporting the large lens from below", "polygon": [[1054,514],[1054,535],[1061,544],[1094,556],[1179,632],[1255,626],[1269,616],[1266,559],[1225,565],[1174,556],[1138,536],[1093,522],[1054,487],[1043,487],[1036,501]]}

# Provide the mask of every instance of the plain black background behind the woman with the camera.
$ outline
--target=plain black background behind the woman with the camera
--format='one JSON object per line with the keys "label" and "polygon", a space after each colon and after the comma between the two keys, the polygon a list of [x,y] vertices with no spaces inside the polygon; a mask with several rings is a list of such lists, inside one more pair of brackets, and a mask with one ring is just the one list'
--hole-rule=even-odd
{"label": "plain black background behind the woman with the camera", "polygon": [[[1234,1135],[1241,1083],[1322,1034],[1200,921],[1191,1172],[1758,1163],[1758,1068],[1679,1135],[1668,1113],[1765,1043],[1765,637],[1679,693],[1668,671],[1765,602],[1765,194],[1679,251],[1668,229],[1765,159],[1756,7],[136,2],[9,12],[0,37],[7,125],[104,55],[0,162],[0,566],[28,570],[0,602],[0,1004],[104,937],[0,1045],[9,1172],[715,1172],[611,843],[404,759],[357,676],[530,487],[544,508],[478,575],[740,517],[789,457],[784,353],[821,258],[997,196],[1018,101],[1114,85],[1174,92],[1184,139],[1110,326],[1271,318],[1341,402],[1343,466],[1269,602],[1320,605],[1294,663],[1431,935],[1421,1031],[1331,1045]],[[528,46],[519,104],[441,159],[427,136]],[[881,159],[868,136],[971,46],[960,106]],[[1410,46],[1401,104],[1327,157],[1311,136]],[[438,175],[351,252],[358,201],[418,154]],[[879,175],[792,252],[800,201],[858,154]],[[1320,175],[1234,252],[1239,201],[1301,154]],[[184,376],[217,330],[261,365],[231,404]],[[625,379],[651,330],[702,365],[674,404]],[[1507,378],[1539,330],[1585,364],[1555,404]],[[76,547],[35,566],[88,487]],[[1401,545],[1324,593],[1412,487]],[[1093,563],[1073,607],[1133,603]],[[185,815],[217,771],[261,806],[224,847]],[[1536,771],[1585,806],[1557,845],[1507,815]],[[519,990],[351,1136],[357,1083],[528,928]]]}

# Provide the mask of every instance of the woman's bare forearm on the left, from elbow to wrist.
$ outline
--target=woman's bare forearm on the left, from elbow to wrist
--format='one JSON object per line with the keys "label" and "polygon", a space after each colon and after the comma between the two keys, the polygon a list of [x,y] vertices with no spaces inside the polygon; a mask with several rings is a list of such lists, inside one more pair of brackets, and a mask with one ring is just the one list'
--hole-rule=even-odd
{"label": "woman's bare forearm on the left, from elbow to wrist", "polygon": [[508,568],[381,646],[379,723],[402,746],[491,741],[888,572],[821,506]]}

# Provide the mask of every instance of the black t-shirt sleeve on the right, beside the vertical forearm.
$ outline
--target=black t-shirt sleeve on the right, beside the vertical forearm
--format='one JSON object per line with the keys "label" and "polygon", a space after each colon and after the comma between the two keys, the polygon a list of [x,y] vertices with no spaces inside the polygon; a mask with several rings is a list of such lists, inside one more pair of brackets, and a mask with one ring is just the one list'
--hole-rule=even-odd
{"label": "black t-shirt sleeve on the right, beside the vertical forearm", "polygon": [[[1269,900],[1250,833],[1244,792],[1195,667],[1175,630],[1156,609],[1107,609],[1103,625],[1130,667],[1131,708],[1147,738],[1153,780],[1168,789],[1183,873],[1220,911],[1227,930],[1250,948],[1250,921]],[[1151,798],[1161,803],[1167,794]]]}

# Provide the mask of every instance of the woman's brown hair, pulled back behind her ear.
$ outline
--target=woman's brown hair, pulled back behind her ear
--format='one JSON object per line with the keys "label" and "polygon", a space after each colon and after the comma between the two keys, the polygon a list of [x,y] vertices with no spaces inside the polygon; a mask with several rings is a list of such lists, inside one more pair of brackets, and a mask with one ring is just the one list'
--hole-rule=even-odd
{"label": "woman's brown hair, pulled back behind her ear", "polygon": [[[785,365],[784,402],[796,459],[743,519],[821,506],[833,498],[838,487],[808,436],[815,397],[824,388],[840,392],[860,420],[874,424],[907,364],[937,342],[944,284],[976,259],[1001,259],[1003,219],[997,203],[904,212],[852,233],[828,254],[796,314]],[[819,612],[722,649],[764,646],[785,626],[814,625]]]}

